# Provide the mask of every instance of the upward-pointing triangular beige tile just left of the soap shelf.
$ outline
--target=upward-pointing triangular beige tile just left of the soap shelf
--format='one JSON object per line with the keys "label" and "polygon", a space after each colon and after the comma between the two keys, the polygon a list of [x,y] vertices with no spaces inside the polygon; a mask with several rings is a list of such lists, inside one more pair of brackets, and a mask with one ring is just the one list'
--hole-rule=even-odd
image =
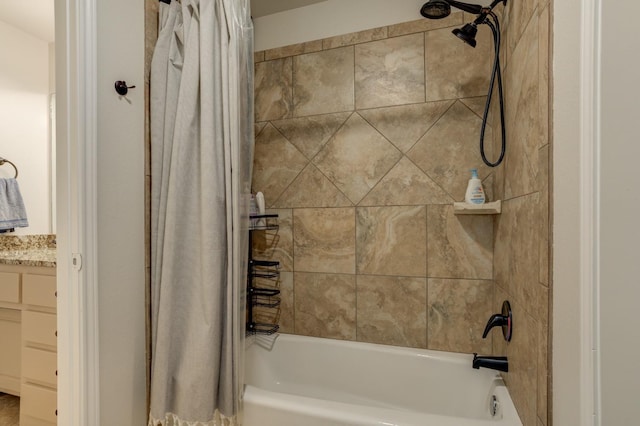
{"label": "upward-pointing triangular beige tile just left of the soap shelf", "polygon": [[407,157],[382,178],[360,202],[361,206],[451,204],[453,198]]}

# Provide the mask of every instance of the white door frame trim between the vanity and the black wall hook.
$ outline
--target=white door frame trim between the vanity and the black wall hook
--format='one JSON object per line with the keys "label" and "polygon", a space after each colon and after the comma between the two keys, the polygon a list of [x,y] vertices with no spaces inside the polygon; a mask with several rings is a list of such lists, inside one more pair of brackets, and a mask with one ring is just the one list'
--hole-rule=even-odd
{"label": "white door frame trim between the vanity and the black wall hook", "polygon": [[55,2],[58,424],[100,424],[96,0]]}

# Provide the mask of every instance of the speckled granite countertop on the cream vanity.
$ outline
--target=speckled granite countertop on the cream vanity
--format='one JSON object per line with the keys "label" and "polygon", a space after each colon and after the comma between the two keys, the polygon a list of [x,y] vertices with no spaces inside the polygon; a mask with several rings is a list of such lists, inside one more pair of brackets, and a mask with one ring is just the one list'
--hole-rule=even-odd
{"label": "speckled granite countertop on the cream vanity", "polygon": [[0,237],[0,264],[55,268],[55,235]]}

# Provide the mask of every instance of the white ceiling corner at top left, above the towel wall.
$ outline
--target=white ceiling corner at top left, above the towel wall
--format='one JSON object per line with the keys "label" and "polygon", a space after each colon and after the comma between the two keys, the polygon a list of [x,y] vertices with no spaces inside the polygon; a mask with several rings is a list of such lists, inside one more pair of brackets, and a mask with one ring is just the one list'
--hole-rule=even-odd
{"label": "white ceiling corner at top left, above the towel wall", "polygon": [[55,38],[54,0],[0,0],[0,21],[41,40]]}

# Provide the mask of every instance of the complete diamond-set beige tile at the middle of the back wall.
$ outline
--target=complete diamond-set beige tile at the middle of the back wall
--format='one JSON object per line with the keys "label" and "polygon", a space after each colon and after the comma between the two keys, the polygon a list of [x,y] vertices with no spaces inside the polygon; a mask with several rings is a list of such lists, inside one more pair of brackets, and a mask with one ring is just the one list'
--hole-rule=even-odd
{"label": "complete diamond-set beige tile at the middle of the back wall", "polygon": [[353,114],[313,163],[357,204],[400,160],[402,153],[358,114]]}

